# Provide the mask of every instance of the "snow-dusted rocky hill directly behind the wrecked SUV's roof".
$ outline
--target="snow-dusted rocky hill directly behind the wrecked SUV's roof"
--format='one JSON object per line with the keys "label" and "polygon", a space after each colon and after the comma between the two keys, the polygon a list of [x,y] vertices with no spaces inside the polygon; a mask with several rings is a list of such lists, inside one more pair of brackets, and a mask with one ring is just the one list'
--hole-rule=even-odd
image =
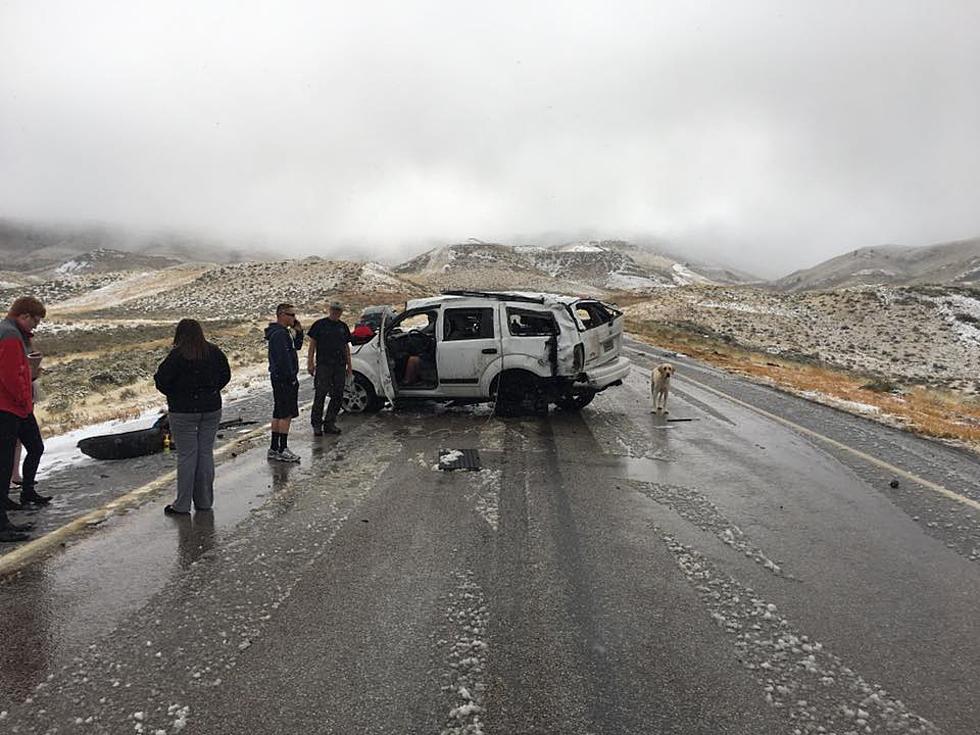
{"label": "snow-dusted rocky hill directly behind the wrecked SUV's roof", "polygon": [[601,294],[740,280],[732,272],[713,268],[708,275],[707,270],[620,240],[551,247],[457,243],[395,267],[397,273],[433,290],[523,288]]}

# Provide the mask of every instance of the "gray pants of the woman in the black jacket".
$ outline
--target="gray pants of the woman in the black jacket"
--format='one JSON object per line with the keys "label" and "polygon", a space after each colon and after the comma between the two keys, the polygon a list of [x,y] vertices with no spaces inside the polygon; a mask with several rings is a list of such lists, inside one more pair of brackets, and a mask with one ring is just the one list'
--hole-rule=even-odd
{"label": "gray pants of the woman in the black jacket", "polygon": [[221,410],[210,413],[172,413],[170,431],[177,444],[177,499],[174,510],[189,512],[214,504],[214,437]]}

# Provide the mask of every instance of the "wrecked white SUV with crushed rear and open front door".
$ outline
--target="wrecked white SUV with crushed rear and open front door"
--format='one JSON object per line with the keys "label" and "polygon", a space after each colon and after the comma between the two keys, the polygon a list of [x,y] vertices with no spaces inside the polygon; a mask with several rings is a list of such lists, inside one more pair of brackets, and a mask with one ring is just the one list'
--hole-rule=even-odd
{"label": "wrecked white SUV with crushed rear and open front door", "polygon": [[414,299],[352,348],[350,413],[411,399],[494,402],[500,413],[586,406],[629,374],[622,312],[596,299],[446,291]]}

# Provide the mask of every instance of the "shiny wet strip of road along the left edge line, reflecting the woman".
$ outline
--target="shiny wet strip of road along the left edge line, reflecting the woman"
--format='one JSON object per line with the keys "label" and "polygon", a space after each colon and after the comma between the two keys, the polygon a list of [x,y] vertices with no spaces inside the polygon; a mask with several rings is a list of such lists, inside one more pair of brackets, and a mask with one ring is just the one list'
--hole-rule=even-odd
{"label": "shiny wet strip of road along the left edge line, reflecting the woman", "polygon": [[218,546],[289,471],[270,465],[264,447],[252,450],[220,465],[211,513],[164,516],[166,493],[0,583],[0,696],[23,693],[47,661],[112,630]]}

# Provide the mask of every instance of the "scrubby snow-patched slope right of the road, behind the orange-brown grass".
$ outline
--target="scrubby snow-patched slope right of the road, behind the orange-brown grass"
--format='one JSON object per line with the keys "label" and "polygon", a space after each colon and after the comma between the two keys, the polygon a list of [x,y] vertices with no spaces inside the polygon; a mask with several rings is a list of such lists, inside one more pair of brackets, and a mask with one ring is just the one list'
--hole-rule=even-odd
{"label": "scrubby snow-patched slope right of the road, behind the orange-brown grass", "polygon": [[885,286],[780,293],[661,289],[627,319],[802,362],[980,393],[980,291]]}

